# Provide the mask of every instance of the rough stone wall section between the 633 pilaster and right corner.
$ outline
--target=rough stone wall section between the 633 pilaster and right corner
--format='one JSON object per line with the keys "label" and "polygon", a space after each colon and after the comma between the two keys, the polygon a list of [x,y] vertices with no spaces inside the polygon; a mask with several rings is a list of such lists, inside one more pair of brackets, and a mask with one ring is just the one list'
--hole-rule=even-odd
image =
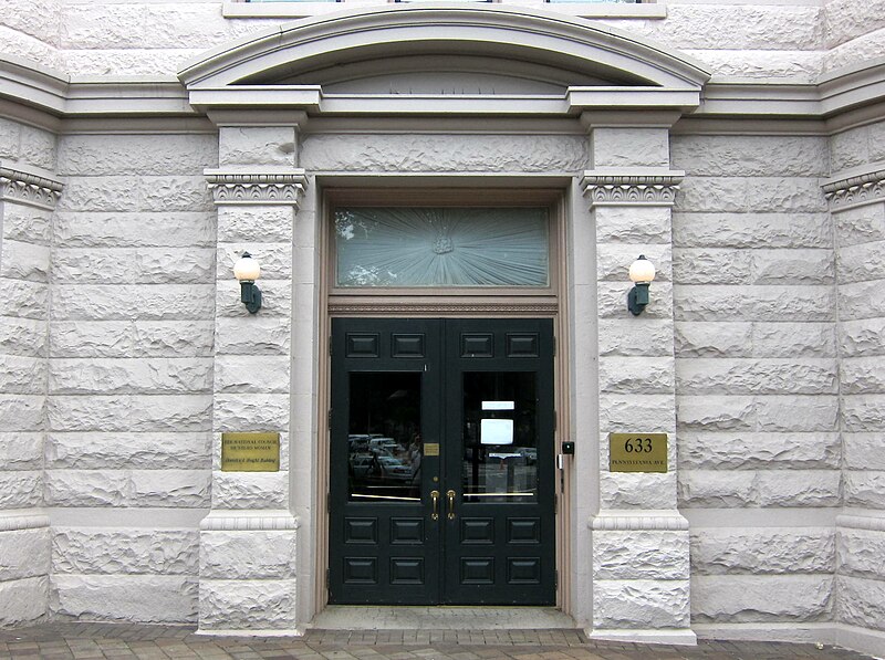
{"label": "rough stone wall section between the 633 pilaster and right corner", "polygon": [[693,624],[832,618],[835,263],[819,137],[673,138],[680,511]]}

